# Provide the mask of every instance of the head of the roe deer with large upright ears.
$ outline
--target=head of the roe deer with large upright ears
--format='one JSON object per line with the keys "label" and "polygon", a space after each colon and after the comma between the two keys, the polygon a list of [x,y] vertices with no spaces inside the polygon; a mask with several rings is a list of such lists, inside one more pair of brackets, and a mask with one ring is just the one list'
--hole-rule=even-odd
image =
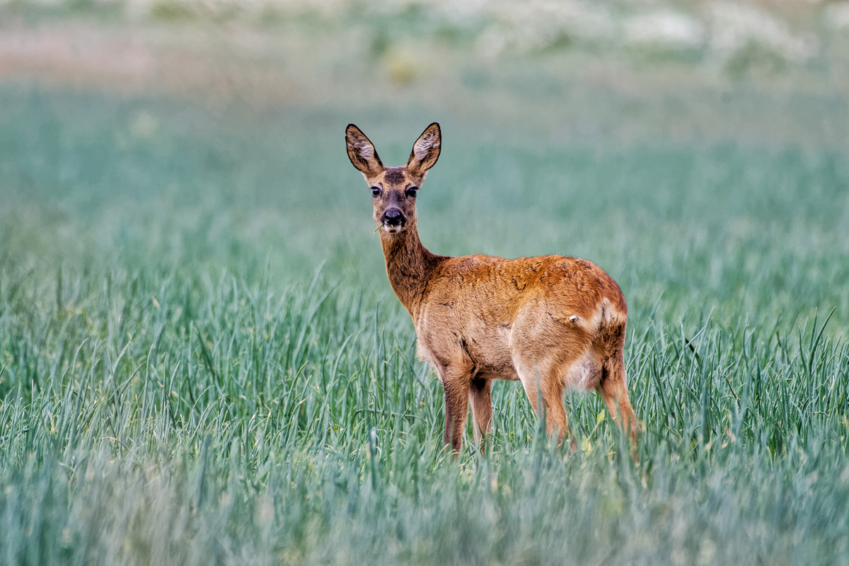
{"label": "head of the roe deer with large upright ears", "polygon": [[407,165],[385,167],[374,145],[353,124],[345,131],[348,158],[363,173],[374,199],[374,222],[387,234],[408,230],[416,223],[416,193],[424,175],[439,159],[439,124],[427,126],[413,143]]}

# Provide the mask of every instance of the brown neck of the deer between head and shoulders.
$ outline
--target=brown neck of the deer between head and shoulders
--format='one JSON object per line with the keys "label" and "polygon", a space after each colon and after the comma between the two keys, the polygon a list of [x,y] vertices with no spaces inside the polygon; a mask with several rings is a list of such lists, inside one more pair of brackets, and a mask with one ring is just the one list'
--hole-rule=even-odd
{"label": "brown neck of the deer between head and shoulders", "polygon": [[414,321],[419,314],[424,290],[441,256],[431,254],[422,245],[414,224],[399,233],[381,230],[380,244],[392,290]]}

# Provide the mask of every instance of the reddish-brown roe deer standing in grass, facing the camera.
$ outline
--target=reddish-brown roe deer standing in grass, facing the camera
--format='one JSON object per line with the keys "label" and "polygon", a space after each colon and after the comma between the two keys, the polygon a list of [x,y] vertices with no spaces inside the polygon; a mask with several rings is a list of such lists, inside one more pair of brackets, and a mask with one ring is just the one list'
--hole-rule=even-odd
{"label": "reddish-brown roe deer standing in grass, facing the camera", "polygon": [[345,134],[348,157],[371,188],[392,289],[413,317],[419,356],[445,389],[445,443],[455,452],[463,446],[470,401],[482,447],[492,420],[492,380],[519,379],[558,441],[569,431],[563,389],[574,387],[599,391],[634,446],[627,305],[616,282],[590,261],[562,255],[431,254],[416,230],[416,193],[439,159],[439,124],[424,130],[402,167],[385,167],[357,126],[349,124]]}

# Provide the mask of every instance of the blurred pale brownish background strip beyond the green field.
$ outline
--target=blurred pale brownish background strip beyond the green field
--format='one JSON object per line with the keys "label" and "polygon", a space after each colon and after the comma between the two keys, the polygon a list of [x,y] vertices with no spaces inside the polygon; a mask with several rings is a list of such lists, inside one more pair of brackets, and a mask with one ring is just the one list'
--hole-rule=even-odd
{"label": "blurred pale brownish background strip beyond the green field", "polygon": [[849,131],[849,2],[40,0],[0,21],[3,81],[562,141]]}

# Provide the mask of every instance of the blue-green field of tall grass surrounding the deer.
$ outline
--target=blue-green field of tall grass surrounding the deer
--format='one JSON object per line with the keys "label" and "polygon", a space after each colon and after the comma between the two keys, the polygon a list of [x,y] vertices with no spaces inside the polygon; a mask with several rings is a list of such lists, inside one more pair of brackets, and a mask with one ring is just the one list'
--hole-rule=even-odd
{"label": "blue-green field of tall grass surrounding the deer", "polygon": [[0,562],[849,562],[846,154],[441,119],[424,244],[610,272],[643,423],[635,465],[569,395],[568,454],[499,383],[452,461],[342,142],[400,163],[432,118],[0,113]]}

